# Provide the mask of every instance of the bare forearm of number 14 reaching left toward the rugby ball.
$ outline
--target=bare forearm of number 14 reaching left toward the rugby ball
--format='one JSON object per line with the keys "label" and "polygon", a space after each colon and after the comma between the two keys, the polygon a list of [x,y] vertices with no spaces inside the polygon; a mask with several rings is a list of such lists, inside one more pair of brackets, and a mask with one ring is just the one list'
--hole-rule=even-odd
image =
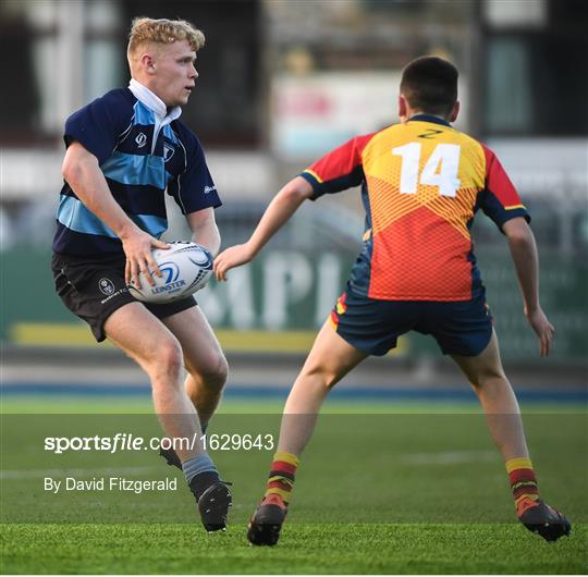
{"label": "bare forearm of number 14 reaching left toward the rugby ball", "polygon": [[313,187],[302,176],[290,181],[269,204],[250,238],[242,245],[223,250],[215,260],[215,274],[219,281],[226,280],[229,270],[255,258],[264,245],[287,222],[297,208],[313,196]]}

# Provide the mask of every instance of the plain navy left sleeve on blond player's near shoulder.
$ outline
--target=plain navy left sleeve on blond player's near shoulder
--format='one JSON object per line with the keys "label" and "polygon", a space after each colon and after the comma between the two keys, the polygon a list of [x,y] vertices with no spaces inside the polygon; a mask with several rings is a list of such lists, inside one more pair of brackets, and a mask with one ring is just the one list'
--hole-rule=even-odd
{"label": "plain navy left sleeve on blond player's near shoulder", "polygon": [[65,121],[65,146],[77,140],[102,164],[114,150],[132,115],[131,101],[112,90],[74,112]]}

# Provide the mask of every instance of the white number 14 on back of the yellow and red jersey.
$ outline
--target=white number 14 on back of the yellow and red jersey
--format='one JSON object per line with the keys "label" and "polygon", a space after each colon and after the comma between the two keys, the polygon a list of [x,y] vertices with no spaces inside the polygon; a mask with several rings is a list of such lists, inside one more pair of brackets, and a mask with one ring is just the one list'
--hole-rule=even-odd
{"label": "white number 14 on back of the yellow and red jersey", "polygon": [[419,174],[422,145],[409,143],[392,149],[392,154],[402,157],[401,194],[414,195],[418,185],[438,186],[441,196],[455,197],[462,184],[457,177],[460,170],[461,147],[452,144],[439,144]]}

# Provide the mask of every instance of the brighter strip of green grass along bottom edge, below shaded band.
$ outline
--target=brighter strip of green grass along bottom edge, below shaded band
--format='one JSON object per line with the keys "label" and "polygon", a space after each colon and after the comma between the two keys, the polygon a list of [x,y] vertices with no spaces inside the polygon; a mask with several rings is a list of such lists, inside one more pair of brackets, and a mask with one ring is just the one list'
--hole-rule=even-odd
{"label": "brighter strip of green grass along bottom edge, below shaded band", "polygon": [[9,525],[10,574],[581,574],[588,527],[548,544],[511,525],[292,524],[275,548],[245,526]]}

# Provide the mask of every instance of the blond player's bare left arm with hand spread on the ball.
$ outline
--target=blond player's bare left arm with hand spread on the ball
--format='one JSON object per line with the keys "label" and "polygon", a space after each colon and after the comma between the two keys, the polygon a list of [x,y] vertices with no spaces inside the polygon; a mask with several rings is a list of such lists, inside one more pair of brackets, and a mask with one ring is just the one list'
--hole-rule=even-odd
{"label": "blond player's bare left arm with hand spread on the ball", "polygon": [[161,275],[161,272],[151,255],[151,247],[169,248],[169,245],[142,231],[126,216],[110,193],[98,159],[82,144],[75,142],[69,146],[61,172],[77,198],[121,240],[126,255],[126,282],[133,280],[140,286],[140,270],[152,284],[148,269],[158,275]]}

